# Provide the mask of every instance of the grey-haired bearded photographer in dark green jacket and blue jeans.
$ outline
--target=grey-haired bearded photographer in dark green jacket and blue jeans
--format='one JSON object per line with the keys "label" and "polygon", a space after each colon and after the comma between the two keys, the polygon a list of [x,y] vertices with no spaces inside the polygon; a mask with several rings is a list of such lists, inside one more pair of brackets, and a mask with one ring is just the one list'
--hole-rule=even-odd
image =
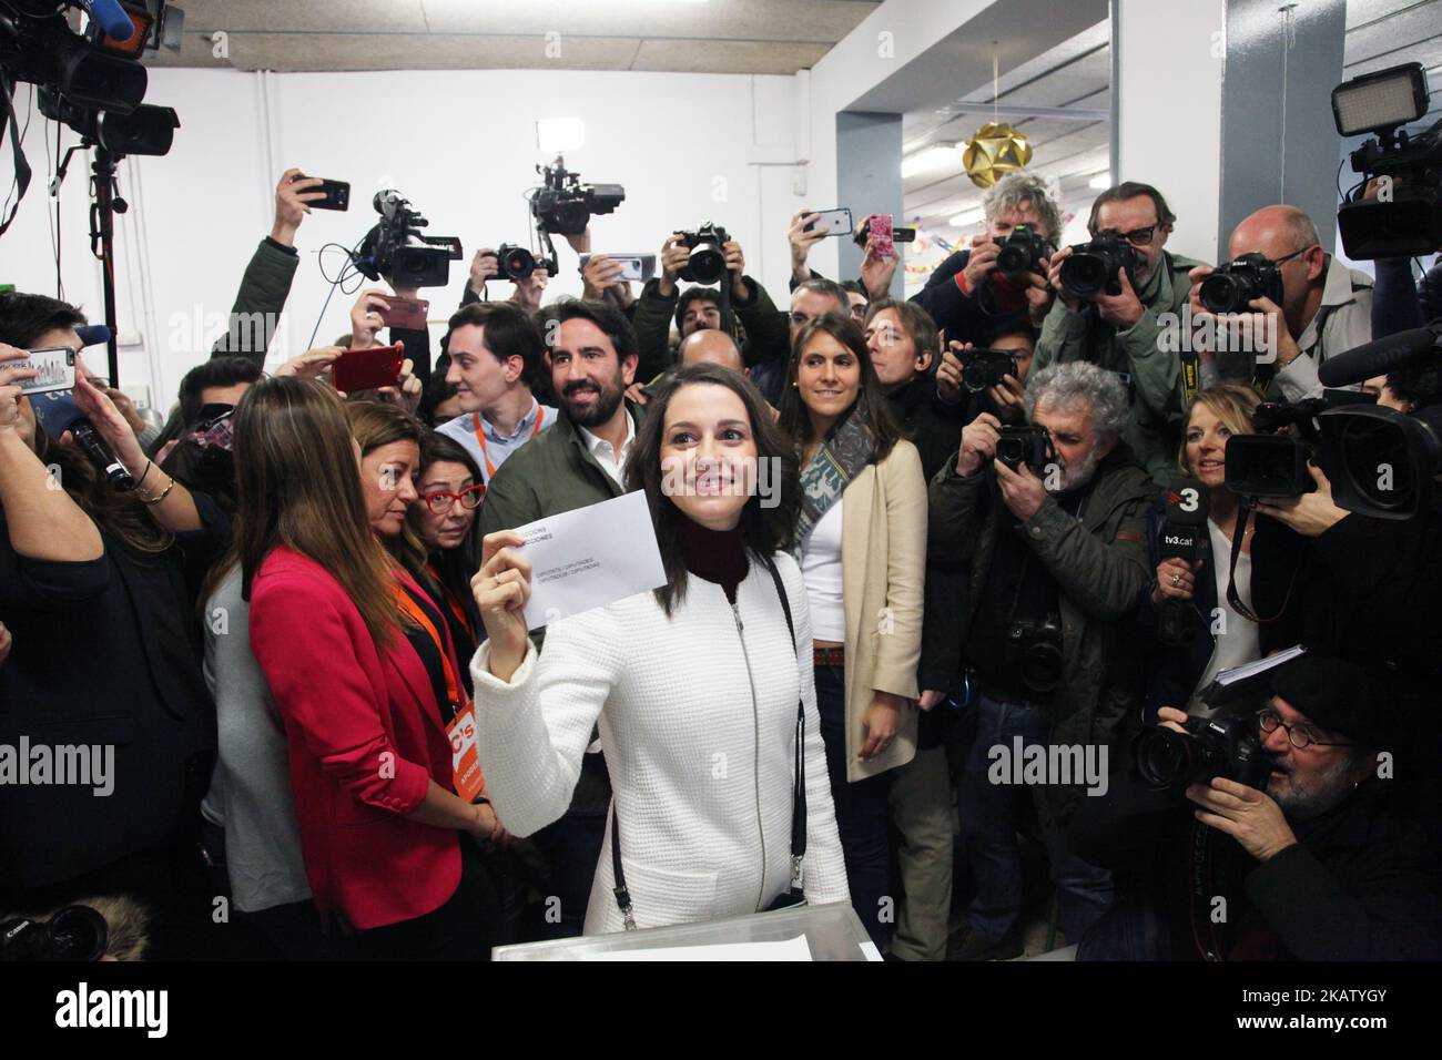
{"label": "grey-haired bearded photographer in dark green jacket and blue jeans", "polygon": [[[963,668],[979,689],[957,795],[976,880],[960,945],[970,960],[1021,953],[1017,806],[1009,789],[988,783],[988,748],[1014,737],[1105,746],[1136,699],[1119,633],[1146,584],[1142,532],[1155,487],[1119,437],[1126,391],[1096,365],[1054,365],[1032,375],[1027,411],[1056,449],[1045,479],[1030,457],[1017,467],[995,459],[1001,421],[983,412],[930,486],[929,564],[959,568],[965,581],[960,600],[929,594],[921,705],[960,688]],[[1084,802],[1080,786],[1031,795],[1063,929],[1080,939],[1112,900],[1107,873],[1077,858],[1060,831]]]}

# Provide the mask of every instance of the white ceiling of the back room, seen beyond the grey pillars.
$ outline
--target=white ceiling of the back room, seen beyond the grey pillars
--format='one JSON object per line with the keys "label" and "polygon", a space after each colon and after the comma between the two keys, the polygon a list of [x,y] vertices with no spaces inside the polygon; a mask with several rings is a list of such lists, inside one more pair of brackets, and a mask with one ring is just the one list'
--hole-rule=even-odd
{"label": "white ceiling of the back room, seen beyond the grey pillars", "polygon": [[[1433,89],[1433,115],[1442,111],[1442,0],[1348,0],[1345,76],[1422,62]],[[1107,23],[1100,22],[1066,43],[1017,69],[1004,71],[998,102],[1002,105],[1110,107],[1110,46]],[[991,84],[959,97],[970,102],[989,102]],[[903,137],[906,153],[927,144],[968,140],[988,120],[988,114],[947,114],[924,110],[906,114]],[[1005,118],[1022,130],[1032,143],[1030,169],[1061,183],[1063,211],[1084,215],[1096,192],[1089,177],[1107,169],[1110,123],[1060,121],[1054,118]],[[962,229],[947,219],[981,208],[982,190],[965,175],[960,154],[950,164],[933,167],[908,177],[906,212],[947,239]],[[972,231],[972,229],[968,229]]]}

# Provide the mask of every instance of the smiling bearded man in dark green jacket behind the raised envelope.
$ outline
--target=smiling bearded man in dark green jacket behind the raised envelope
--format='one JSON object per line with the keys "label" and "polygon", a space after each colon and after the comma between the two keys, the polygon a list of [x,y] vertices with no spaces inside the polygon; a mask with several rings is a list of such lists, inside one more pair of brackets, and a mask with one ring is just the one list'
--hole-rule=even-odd
{"label": "smiling bearded man in dark green jacket behind the raised envelope", "polygon": [[[496,469],[480,506],[482,535],[626,492],[622,474],[642,415],[624,398],[639,362],[630,322],[610,303],[565,299],[542,309],[538,323],[561,408],[554,427]],[[532,836],[549,862],[547,894],[561,901],[561,923],[551,926],[557,937],[581,933],[606,831],[611,786],[598,741],[591,747],[571,808]]]}

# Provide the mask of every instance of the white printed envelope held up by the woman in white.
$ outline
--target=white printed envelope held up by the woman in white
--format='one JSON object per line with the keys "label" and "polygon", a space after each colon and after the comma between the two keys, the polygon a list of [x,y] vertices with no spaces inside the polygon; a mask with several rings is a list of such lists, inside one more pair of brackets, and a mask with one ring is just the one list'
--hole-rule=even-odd
{"label": "white printed envelope held up by the woman in white", "polygon": [[531,561],[526,629],[666,584],[640,490],[518,526]]}

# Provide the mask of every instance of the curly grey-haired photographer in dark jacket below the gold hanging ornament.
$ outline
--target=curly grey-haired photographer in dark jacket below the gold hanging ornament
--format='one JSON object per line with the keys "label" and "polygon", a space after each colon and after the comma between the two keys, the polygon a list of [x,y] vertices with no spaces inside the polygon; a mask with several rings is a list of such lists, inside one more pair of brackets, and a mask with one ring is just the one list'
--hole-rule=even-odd
{"label": "curly grey-haired photographer in dark jacket below the gold hanging ornament", "polygon": [[1019,280],[996,271],[1001,244],[1018,225],[1027,225],[1048,245],[1061,238],[1061,209],[1045,182],[1034,173],[1008,173],[986,189],[982,211],[986,235],[937,265],[911,299],[950,340],[985,343],[998,329],[1027,322],[1040,327],[1054,297],[1047,284],[1050,255]]}

